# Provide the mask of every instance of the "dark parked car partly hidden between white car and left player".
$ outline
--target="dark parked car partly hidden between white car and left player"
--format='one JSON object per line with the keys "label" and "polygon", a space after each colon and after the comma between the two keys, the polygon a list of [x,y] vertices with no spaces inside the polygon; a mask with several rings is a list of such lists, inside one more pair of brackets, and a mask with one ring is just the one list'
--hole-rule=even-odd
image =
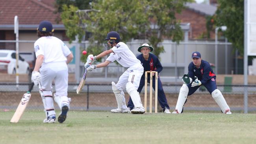
{"label": "dark parked car partly hidden between white car and left player", "polygon": [[25,59],[26,62],[28,62],[30,67],[30,72],[33,71],[35,67],[35,52],[19,52],[20,56]]}

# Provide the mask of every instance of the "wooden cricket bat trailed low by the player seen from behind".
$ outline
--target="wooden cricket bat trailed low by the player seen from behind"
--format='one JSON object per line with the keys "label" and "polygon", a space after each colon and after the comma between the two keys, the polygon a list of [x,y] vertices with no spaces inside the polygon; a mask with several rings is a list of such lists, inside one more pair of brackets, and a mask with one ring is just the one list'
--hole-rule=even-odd
{"label": "wooden cricket bat trailed low by the player seen from behind", "polygon": [[34,83],[31,84],[29,90],[22,96],[19,106],[17,107],[15,113],[13,114],[13,117],[11,118],[12,123],[17,123],[20,120],[20,117],[22,116],[23,112],[25,111],[28,102],[30,100],[31,97],[31,90],[33,89]]}

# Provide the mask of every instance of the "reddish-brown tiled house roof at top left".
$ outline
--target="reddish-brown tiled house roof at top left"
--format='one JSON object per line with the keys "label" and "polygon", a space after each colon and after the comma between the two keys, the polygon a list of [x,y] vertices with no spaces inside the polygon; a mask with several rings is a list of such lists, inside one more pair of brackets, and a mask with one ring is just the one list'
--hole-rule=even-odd
{"label": "reddish-brown tiled house roof at top left", "polygon": [[[0,0],[0,30],[11,27],[13,30],[15,15],[19,18],[19,28],[35,30],[42,20],[49,20],[56,25],[58,13],[54,13],[54,0]],[[52,5],[51,5],[52,4]],[[58,28],[63,24],[58,24]],[[54,28],[56,29],[56,28]]]}

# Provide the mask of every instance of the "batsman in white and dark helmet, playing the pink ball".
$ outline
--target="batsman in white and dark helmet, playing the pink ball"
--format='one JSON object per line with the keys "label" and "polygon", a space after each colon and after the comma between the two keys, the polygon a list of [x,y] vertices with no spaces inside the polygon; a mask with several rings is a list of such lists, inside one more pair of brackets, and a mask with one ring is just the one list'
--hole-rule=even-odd
{"label": "batsman in white and dark helmet, playing the pink ball", "polygon": [[[113,63],[117,61],[120,65],[128,68],[119,78],[117,84],[112,81],[112,90],[115,94],[115,98],[117,100],[117,109],[112,109],[112,113],[128,113],[130,110],[127,108],[124,98],[123,88],[126,86],[126,91],[132,98],[132,102],[134,103],[134,109],[132,109],[131,113],[133,114],[143,114],[145,113],[145,109],[141,103],[141,98],[137,89],[139,87],[139,82],[141,80],[141,76],[143,74],[144,68],[141,65],[141,61],[135,57],[132,51],[128,48],[128,46],[124,42],[120,42],[121,37],[119,33],[116,31],[111,31],[108,33],[106,39],[108,42],[105,46],[111,48],[110,50],[106,50],[99,55],[93,56],[88,55],[87,63],[85,63],[85,68],[91,71],[95,68],[101,68],[104,66],[108,66],[109,63]],[[105,62],[100,63],[98,65],[88,65],[89,63],[96,61],[100,57],[104,57],[106,55],[109,57]],[[93,57],[93,59],[91,59]]]}

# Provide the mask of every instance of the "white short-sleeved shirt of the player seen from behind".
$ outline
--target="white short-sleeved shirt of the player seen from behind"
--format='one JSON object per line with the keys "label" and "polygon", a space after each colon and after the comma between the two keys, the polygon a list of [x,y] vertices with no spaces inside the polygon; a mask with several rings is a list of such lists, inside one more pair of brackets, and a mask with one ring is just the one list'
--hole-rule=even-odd
{"label": "white short-sleeved shirt of the player seen from behind", "polygon": [[67,61],[67,56],[71,53],[63,41],[57,37],[40,37],[34,43],[35,55],[44,55],[43,64],[50,62]]}

